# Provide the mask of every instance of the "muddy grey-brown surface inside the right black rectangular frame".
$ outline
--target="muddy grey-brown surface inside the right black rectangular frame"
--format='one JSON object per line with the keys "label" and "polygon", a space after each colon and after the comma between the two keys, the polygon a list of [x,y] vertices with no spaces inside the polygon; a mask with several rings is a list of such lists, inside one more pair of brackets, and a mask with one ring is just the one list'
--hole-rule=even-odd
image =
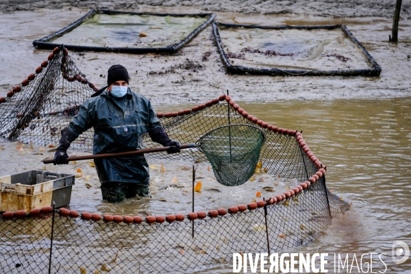
{"label": "muddy grey-brown surface inside the right black rectangular frame", "polygon": [[298,70],[369,69],[360,47],[342,29],[220,27],[234,66]]}

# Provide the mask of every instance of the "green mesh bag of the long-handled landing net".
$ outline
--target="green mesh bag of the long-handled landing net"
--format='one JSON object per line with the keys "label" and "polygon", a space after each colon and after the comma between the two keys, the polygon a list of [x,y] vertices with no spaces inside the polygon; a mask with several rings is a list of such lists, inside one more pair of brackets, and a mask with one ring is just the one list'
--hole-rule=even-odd
{"label": "green mesh bag of the long-handled landing net", "polygon": [[199,142],[217,181],[225,186],[240,186],[256,170],[264,140],[264,132],[258,127],[236,124],[218,127]]}

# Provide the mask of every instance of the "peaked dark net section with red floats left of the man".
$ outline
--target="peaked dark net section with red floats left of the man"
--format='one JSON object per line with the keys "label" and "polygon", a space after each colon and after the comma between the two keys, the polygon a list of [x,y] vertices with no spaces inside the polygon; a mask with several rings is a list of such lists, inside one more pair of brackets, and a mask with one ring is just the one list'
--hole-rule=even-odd
{"label": "peaked dark net section with red floats left of the man", "polygon": [[[98,88],[86,79],[64,47],[55,47],[36,72],[0,98],[0,137],[10,141],[56,144],[79,107]],[[92,150],[92,130],[72,148]]]}

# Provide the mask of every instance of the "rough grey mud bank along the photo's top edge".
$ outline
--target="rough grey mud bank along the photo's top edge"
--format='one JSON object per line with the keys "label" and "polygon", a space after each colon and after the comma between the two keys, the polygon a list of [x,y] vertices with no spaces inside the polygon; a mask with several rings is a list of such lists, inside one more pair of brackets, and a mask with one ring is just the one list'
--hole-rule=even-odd
{"label": "rough grey mud bank along the photo's top edge", "polygon": [[[121,10],[141,10],[150,7],[180,7],[211,11],[211,12],[241,12],[244,14],[311,14],[315,16],[359,17],[383,16],[392,17],[395,1],[367,1],[367,0],[323,0],[323,1],[38,1],[38,0],[0,0],[0,10],[13,12],[16,10],[35,10],[36,8],[61,9],[64,7],[76,8],[110,8]],[[401,16],[410,17],[411,1],[403,1]]]}

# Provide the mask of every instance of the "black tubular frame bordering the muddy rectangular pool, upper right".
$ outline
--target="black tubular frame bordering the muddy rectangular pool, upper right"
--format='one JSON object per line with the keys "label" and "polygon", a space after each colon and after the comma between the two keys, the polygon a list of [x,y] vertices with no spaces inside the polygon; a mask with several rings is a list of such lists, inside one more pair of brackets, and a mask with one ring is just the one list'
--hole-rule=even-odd
{"label": "black tubular frame bordering the muddy rectangular pool, upper right", "polygon": [[[297,69],[276,69],[276,68],[256,68],[251,66],[234,66],[229,62],[227,58],[227,53],[225,53],[223,48],[223,42],[219,33],[219,27],[225,28],[245,28],[245,29],[341,29],[345,35],[357,45],[366,62],[369,64],[369,69],[344,69],[344,70],[297,70]],[[269,26],[269,25],[241,25],[241,24],[230,24],[230,23],[221,23],[214,22],[212,23],[212,30],[214,38],[216,40],[216,45],[223,62],[225,69],[229,73],[236,74],[260,74],[260,75],[288,75],[288,76],[369,76],[375,77],[381,74],[381,66],[375,62],[373,56],[366,51],[364,46],[353,36],[345,25],[302,25],[302,26],[293,26],[293,25],[278,25],[278,26]]]}

